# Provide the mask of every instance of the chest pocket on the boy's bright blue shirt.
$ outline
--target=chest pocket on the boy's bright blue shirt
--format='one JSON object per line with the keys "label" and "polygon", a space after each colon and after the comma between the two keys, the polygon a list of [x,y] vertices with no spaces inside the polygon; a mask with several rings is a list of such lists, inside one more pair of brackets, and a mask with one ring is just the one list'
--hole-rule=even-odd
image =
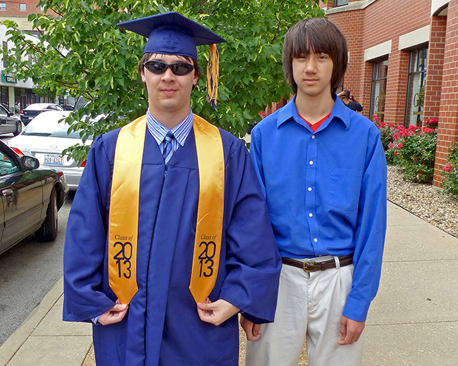
{"label": "chest pocket on the boy's bright blue shirt", "polygon": [[329,204],[344,211],[357,210],[362,176],[362,170],[333,168]]}

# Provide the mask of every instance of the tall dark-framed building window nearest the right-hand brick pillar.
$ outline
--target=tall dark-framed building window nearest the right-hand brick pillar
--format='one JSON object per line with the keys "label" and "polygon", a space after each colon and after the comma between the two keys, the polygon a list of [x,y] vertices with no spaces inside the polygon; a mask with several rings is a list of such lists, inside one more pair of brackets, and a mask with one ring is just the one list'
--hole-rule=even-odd
{"label": "tall dark-framed building window nearest the right-hand brick pillar", "polygon": [[421,126],[421,120],[423,120],[427,58],[427,48],[415,49],[410,52],[405,127],[409,125]]}

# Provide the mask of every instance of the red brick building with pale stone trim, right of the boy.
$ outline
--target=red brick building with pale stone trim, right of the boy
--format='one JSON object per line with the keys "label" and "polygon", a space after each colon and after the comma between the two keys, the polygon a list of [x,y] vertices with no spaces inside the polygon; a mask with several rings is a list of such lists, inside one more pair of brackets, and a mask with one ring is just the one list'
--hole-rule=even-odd
{"label": "red brick building with pale stone trim, right of the boy", "polygon": [[434,184],[458,141],[458,0],[328,0],[321,5],[347,37],[343,80],[364,107],[395,125],[436,118]]}

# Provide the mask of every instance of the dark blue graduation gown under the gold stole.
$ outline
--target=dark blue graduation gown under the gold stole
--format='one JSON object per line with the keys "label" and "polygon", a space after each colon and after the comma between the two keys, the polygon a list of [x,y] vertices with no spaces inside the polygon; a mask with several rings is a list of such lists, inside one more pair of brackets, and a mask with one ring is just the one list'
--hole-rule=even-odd
{"label": "dark blue graduation gown under the gold stole", "polygon": [[[254,322],[273,322],[280,256],[249,153],[220,130],[225,157],[221,260],[209,298],[223,298]],[[95,139],[68,218],[63,320],[89,322],[113,307],[107,232],[119,130]],[[159,146],[147,132],[140,179],[138,292],[122,322],[93,325],[97,365],[238,365],[237,315],[202,322],[189,290],[199,199],[194,131],[164,177]]]}

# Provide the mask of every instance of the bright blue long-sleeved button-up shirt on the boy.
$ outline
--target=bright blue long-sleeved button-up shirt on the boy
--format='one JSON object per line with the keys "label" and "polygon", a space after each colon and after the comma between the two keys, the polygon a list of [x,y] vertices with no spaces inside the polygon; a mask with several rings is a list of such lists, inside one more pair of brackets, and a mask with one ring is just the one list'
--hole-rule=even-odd
{"label": "bright blue long-sleeved button-up shirt on the boy", "polygon": [[280,255],[354,253],[343,315],[366,320],[386,229],[386,161],[376,126],[337,98],[330,117],[312,132],[294,98],[254,127],[250,154]]}

